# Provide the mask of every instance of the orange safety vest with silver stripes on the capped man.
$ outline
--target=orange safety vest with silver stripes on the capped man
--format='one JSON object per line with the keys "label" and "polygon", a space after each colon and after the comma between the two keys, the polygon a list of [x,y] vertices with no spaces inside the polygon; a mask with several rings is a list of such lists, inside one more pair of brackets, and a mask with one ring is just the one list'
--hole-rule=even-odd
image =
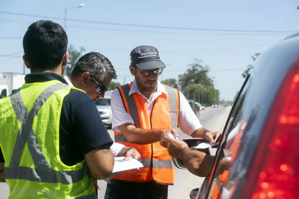
{"label": "orange safety vest with silver stripes on the capped man", "polygon": [[[139,94],[129,96],[132,83],[118,87],[126,111],[132,116],[137,128],[142,129],[177,129],[179,113],[179,93],[163,85],[167,95],[162,93],[154,100],[151,115],[147,101]],[[133,144],[128,142],[122,132],[114,132],[115,142],[134,147],[141,154],[144,167],[140,170],[133,169],[116,175],[113,179],[149,182],[154,180],[159,184],[173,185],[175,167],[167,148],[160,145],[159,141],[151,144]]]}

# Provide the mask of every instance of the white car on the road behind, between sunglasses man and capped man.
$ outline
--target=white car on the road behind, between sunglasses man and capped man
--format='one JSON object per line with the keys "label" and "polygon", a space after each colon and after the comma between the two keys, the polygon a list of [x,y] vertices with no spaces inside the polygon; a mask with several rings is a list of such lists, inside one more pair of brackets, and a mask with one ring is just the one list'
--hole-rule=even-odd
{"label": "white car on the road behind, between sunglasses man and capped man", "polygon": [[111,99],[110,96],[105,96],[103,99],[99,99],[96,102],[96,106],[101,115],[102,121],[108,128],[112,127],[112,111],[111,111]]}

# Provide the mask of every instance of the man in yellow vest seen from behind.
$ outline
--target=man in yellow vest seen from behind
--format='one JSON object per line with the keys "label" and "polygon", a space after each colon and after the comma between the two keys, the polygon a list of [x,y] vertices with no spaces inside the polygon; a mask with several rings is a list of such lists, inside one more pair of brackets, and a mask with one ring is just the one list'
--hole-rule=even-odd
{"label": "man in yellow vest seen from behind", "polygon": [[0,100],[10,199],[95,199],[94,179],[112,173],[113,141],[94,101],[61,76],[67,42],[59,24],[32,23],[23,37],[23,60],[31,73],[17,92]]}

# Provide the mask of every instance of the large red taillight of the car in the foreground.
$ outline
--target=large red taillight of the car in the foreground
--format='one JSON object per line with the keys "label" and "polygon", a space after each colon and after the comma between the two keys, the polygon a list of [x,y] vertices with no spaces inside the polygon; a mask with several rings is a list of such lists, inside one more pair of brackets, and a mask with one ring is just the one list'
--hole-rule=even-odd
{"label": "large red taillight of the car in the foreground", "polygon": [[242,199],[299,199],[299,59],[270,111]]}

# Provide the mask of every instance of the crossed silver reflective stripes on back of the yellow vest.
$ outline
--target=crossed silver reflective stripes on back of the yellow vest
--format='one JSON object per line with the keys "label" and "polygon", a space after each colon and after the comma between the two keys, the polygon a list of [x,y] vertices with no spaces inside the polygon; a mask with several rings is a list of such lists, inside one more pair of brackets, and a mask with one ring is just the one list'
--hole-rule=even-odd
{"label": "crossed silver reflective stripes on back of the yellow vest", "polygon": [[[43,103],[45,103],[54,92],[67,87],[68,85],[59,83],[45,89],[38,96],[29,113],[21,99],[20,92],[16,92],[10,96],[13,110],[21,123],[21,127],[17,133],[9,168],[5,167],[4,175],[6,179],[72,184],[79,182],[89,174],[88,168],[85,165],[83,169],[77,171],[60,172],[53,170],[43,155],[32,129],[34,117],[37,115]],[[26,142],[36,169],[19,167],[21,154]]]}

